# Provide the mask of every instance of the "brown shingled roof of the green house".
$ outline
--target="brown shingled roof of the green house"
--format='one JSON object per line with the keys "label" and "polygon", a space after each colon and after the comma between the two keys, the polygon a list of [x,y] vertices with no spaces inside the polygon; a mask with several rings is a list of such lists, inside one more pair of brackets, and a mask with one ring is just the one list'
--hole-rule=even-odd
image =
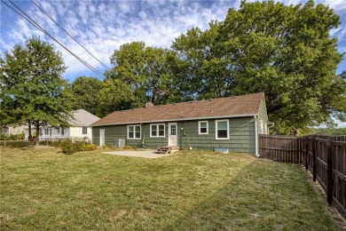
{"label": "brown shingled roof of the green house", "polygon": [[217,118],[224,116],[254,116],[258,114],[264,94],[262,92],[213,100],[197,100],[147,108],[135,108],[103,117],[91,126],[124,123],[145,123]]}

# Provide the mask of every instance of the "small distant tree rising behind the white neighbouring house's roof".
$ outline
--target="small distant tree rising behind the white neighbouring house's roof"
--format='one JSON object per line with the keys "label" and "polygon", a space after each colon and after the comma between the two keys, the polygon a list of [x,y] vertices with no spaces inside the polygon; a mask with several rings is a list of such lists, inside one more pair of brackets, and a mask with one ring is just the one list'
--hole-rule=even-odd
{"label": "small distant tree rising behind the white neighbouring house's roof", "polygon": [[71,84],[73,93],[73,109],[85,109],[91,114],[98,115],[99,91],[103,83],[94,77],[80,76]]}

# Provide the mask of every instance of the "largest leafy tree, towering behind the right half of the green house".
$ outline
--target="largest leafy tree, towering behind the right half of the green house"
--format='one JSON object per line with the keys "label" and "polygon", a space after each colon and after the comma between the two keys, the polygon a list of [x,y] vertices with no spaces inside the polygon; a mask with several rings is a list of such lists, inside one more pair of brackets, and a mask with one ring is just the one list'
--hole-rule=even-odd
{"label": "largest leafy tree, towering behind the right half of the green house", "polygon": [[175,72],[206,98],[265,92],[277,133],[345,119],[346,85],[335,76],[342,54],[329,36],[340,24],[326,5],[243,1],[226,19],[179,36]]}

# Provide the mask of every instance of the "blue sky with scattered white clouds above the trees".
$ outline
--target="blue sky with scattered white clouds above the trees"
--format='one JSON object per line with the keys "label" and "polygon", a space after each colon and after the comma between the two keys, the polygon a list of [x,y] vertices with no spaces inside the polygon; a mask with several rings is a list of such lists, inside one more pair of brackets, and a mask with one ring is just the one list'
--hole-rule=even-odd
{"label": "blue sky with scattered white clouds above the trees", "polygon": [[[9,0],[2,0],[12,5]],[[80,44],[77,44],[60,29],[30,0],[12,1],[35,22],[54,36],[59,43],[104,73],[112,68],[110,57],[122,44],[141,41],[147,46],[169,48],[174,39],[185,34],[190,28],[208,28],[211,20],[224,20],[229,8],[238,10],[240,0],[230,1],[45,1],[33,0],[59,25],[67,30]],[[252,2],[249,1],[248,2]],[[307,0],[281,0],[284,4],[304,4]],[[346,4],[345,0],[315,0],[316,4],[327,4],[340,15],[342,24],[331,31],[338,39],[338,51],[346,52]],[[14,8],[14,6],[12,5]],[[24,44],[30,36],[54,44],[67,65],[64,78],[72,82],[78,76],[97,76],[59,44],[45,36],[27,20],[13,12],[3,2],[0,4],[0,55],[11,51],[14,44]],[[346,70],[346,56],[338,66],[336,74]],[[346,126],[346,123],[345,123]]]}

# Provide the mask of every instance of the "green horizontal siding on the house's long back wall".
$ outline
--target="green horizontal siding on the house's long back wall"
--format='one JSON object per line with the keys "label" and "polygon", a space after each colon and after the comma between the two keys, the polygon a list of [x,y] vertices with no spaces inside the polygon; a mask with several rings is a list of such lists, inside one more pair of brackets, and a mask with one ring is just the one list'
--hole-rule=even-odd
{"label": "green horizontal siding on the house's long back wall", "polygon": [[[208,121],[208,134],[199,134],[199,120],[177,122],[177,143],[182,149],[215,150],[229,148],[230,152],[255,154],[255,119],[241,117],[229,119],[229,139],[216,139],[216,120]],[[92,142],[99,146],[99,130],[105,129],[105,144],[114,145],[114,139],[124,139],[131,147],[156,148],[168,145],[168,123],[165,123],[165,137],[150,137],[150,124],[141,126],[141,139],[127,139],[127,125],[109,125],[92,128]],[[144,139],[144,140],[143,140]],[[143,142],[144,141],[144,142]]]}

